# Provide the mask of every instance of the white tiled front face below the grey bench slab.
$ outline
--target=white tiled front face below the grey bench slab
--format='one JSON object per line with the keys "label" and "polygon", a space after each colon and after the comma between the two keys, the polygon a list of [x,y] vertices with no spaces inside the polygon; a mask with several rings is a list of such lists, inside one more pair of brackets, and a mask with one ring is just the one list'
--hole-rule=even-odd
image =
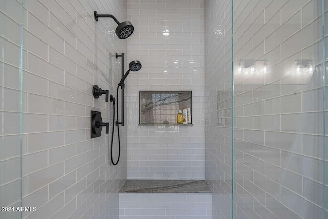
{"label": "white tiled front face below the grey bench slab", "polygon": [[212,194],[120,193],[120,219],[211,219]]}

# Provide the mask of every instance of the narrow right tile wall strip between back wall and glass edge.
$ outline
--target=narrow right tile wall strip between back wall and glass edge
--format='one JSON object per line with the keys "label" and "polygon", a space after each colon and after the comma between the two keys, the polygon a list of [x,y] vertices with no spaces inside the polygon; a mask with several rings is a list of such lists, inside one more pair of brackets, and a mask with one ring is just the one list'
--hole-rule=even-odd
{"label": "narrow right tile wall strip between back wall and glass edge", "polygon": [[212,217],[231,218],[231,1],[206,1],[206,178]]}

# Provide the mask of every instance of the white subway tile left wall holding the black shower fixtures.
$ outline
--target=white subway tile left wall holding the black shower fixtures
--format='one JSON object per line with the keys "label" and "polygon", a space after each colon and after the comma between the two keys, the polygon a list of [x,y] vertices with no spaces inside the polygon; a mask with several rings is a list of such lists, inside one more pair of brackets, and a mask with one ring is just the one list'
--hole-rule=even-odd
{"label": "white subway tile left wall holding the black shower fixtures", "polygon": [[[4,6],[4,7],[3,7]],[[0,206],[20,199],[20,1],[0,9],[3,55],[0,77]],[[113,106],[94,99],[92,86],[116,94],[126,52],[110,18],[126,20],[126,1],[33,0],[24,2],[23,29],[23,218],[119,218],[118,191],[126,179],[126,129],[120,129],[121,160],[108,159],[111,134],[90,139],[90,111],[112,128]],[[114,138],[117,157],[117,133]],[[3,153],[5,151],[5,153]],[[3,198],[4,197],[4,198]],[[0,212],[0,218],[17,218]],[[19,215],[20,216],[20,215]]]}

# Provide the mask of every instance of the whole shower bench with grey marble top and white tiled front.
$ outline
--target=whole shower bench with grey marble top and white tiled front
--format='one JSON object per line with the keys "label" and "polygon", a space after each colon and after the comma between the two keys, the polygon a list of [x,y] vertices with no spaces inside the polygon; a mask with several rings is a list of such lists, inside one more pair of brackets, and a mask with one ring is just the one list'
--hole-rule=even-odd
{"label": "whole shower bench with grey marble top and white tiled front", "polygon": [[212,193],[204,180],[127,180],[119,210],[120,219],[211,219]]}

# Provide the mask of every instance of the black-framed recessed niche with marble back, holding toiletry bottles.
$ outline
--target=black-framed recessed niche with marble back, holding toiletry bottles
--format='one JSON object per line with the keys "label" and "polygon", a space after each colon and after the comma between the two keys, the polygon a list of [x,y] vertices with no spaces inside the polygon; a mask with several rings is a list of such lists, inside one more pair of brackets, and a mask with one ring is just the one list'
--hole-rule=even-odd
{"label": "black-framed recessed niche with marble back, holding toiletry bottles", "polygon": [[[192,125],[192,91],[140,91],[139,125]],[[179,110],[190,108],[190,123],[178,124]]]}

